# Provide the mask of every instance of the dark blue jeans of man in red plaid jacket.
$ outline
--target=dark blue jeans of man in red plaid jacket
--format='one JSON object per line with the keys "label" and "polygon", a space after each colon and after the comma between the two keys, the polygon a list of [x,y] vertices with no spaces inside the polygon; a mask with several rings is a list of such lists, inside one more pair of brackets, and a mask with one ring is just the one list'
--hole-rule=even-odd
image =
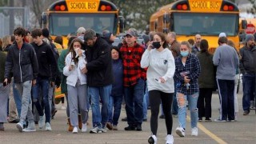
{"label": "dark blue jeans of man in red plaid jacket", "polygon": [[126,115],[129,126],[142,124],[144,87],[145,81],[142,78],[139,78],[134,86],[125,87]]}

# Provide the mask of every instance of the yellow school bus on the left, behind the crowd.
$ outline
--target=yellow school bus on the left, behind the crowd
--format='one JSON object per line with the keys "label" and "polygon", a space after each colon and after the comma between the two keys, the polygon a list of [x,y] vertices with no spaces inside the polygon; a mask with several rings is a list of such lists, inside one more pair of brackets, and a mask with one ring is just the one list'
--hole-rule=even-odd
{"label": "yellow school bus on the left, behind the crowd", "polygon": [[63,36],[65,46],[66,35],[75,35],[80,26],[98,33],[110,30],[119,34],[124,18],[118,12],[117,6],[106,0],[60,0],[42,13],[42,27],[49,29],[52,38]]}

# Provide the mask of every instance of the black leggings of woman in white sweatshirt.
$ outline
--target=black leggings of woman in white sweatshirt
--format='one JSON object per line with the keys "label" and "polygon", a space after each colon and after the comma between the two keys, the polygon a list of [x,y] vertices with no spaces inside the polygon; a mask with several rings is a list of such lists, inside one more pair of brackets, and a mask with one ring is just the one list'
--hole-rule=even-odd
{"label": "black leggings of woman in white sweatshirt", "polygon": [[150,128],[153,135],[157,135],[158,131],[158,114],[159,114],[159,106],[162,102],[162,110],[163,114],[166,116],[166,129],[167,134],[171,134],[171,130],[173,129],[173,117],[170,113],[171,104],[173,102],[173,94],[174,93],[164,93],[160,90],[150,90],[150,110],[151,110],[151,118],[150,118]]}

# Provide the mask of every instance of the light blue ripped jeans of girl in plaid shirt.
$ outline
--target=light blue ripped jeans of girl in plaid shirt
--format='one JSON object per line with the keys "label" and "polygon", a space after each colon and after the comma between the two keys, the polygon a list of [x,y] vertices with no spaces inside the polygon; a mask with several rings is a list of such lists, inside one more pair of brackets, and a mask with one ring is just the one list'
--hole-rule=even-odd
{"label": "light blue ripped jeans of girl in plaid shirt", "polygon": [[184,130],[186,129],[186,100],[190,106],[191,128],[198,127],[198,93],[184,95],[177,93],[178,102],[178,123]]}

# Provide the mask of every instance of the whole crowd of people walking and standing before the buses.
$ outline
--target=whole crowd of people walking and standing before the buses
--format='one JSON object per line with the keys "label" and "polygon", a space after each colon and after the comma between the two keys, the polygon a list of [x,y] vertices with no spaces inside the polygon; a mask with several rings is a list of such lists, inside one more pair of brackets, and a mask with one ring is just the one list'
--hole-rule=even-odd
{"label": "whole crowd of people walking and standing before the buses", "polygon": [[[4,131],[8,119],[17,122],[20,132],[36,131],[35,123],[39,129],[51,131],[50,121],[56,113],[54,89],[58,86],[67,101],[68,131],[74,134],[79,129],[87,131],[90,107],[90,133],[119,130],[124,99],[128,125],[124,130],[141,131],[150,106],[150,144],[158,141],[160,110],[159,118],[166,120],[166,144],[174,143],[173,115],[178,117],[176,134],[185,137],[187,109],[191,135],[198,136],[198,122],[202,118],[212,121],[211,98],[216,89],[220,108],[214,122],[238,119],[236,89],[240,74],[243,115],[250,113],[255,98],[253,34],[246,35],[246,44],[239,51],[225,33],[219,34],[214,54],[210,54],[208,41],[200,34],[194,40],[178,42],[174,32],[150,32],[142,36],[143,45],[136,42],[137,37],[137,30],[130,28],[122,43],[112,46],[114,35],[110,31],[97,34],[79,27],[77,36],[71,36],[67,48],[58,54],[56,47],[64,47],[62,37],[53,41],[47,29],[30,32],[16,28],[14,35],[2,38],[0,130]],[[11,99],[16,107],[7,110],[14,105]]]}

